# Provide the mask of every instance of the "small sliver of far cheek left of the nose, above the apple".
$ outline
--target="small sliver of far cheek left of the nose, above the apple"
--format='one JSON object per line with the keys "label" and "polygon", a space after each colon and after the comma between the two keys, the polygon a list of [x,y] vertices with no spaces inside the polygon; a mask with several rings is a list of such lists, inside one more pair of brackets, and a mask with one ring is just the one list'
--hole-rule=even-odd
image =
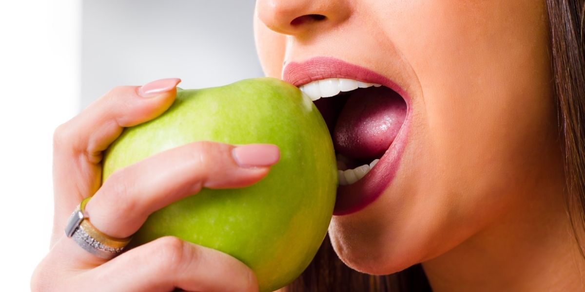
{"label": "small sliver of far cheek left of the nose, above the apple", "polygon": [[254,13],[254,38],[260,64],[267,77],[281,78],[286,36],[270,30]]}

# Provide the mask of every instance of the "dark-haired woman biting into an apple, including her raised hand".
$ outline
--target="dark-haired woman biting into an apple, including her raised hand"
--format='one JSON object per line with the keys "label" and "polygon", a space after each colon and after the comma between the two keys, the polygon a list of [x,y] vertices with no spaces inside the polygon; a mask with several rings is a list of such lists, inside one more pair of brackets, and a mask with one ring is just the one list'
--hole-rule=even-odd
{"label": "dark-haired woman biting into an apple, including her raised hand", "polygon": [[[332,126],[340,167],[380,158],[363,179],[339,187],[329,237],[347,266],[383,275],[422,263],[433,291],[585,289],[583,0],[259,0],[256,6],[266,75],[314,99],[339,92],[331,87],[339,79],[329,78],[383,85],[346,95],[353,106],[339,104],[343,96],[315,102]],[[123,127],[164,112],[178,81],[113,89],[57,129],[52,248],[33,275],[33,290],[256,289],[242,263],[176,238],[106,260],[63,235],[71,210],[93,194],[85,206],[91,223],[125,238],[171,201],[202,186],[250,185],[276,163],[271,145],[196,143],[99,187],[101,151]],[[398,126],[386,125],[396,130],[390,133],[376,125],[396,113],[399,103],[384,98],[394,92],[405,112]],[[371,142],[373,135],[356,126],[361,122],[385,140]],[[371,150],[380,145],[387,149]],[[163,161],[168,171],[146,171],[166,169]],[[177,185],[196,187],[177,192]],[[106,207],[111,200],[115,206]],[[347,272],[328,263],[334,257],[327,252],[291,290],[409,288],[409,281],[390,283],[404,277]],[[420,276],[407,277],[413,275]]]}

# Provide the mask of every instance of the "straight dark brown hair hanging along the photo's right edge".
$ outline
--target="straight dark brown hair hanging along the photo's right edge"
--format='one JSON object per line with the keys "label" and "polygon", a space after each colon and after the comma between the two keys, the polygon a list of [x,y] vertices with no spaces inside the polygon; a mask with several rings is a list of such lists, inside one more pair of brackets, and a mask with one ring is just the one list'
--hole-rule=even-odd
{"label": "straight dark brown hair hanging along the photo's right edge", "polygon": [[585,230],[585,0],[547,0],[550,51],[564,137],[567,210],[583,251]]}

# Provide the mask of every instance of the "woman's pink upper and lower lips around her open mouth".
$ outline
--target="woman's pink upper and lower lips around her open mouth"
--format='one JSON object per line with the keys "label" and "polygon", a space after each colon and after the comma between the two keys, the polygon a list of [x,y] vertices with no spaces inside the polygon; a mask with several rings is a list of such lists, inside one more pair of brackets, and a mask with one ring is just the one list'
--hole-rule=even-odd
{"label": "woman's pink upper and lower lips around her open mouth", "polygon": [[410,98],[394,81],[370,69],[332,57],[315,57],[304,62],[290,62],[283,71],[283,79],[295,86],[326,78],[349,78],[381,84],[397,92],[407,103],[407,116],[390,148],[371,171],[356,183],[339,186],[333,215],[355,213],[375,201],[386,190],[398,170],[407,143],[411,111]]}

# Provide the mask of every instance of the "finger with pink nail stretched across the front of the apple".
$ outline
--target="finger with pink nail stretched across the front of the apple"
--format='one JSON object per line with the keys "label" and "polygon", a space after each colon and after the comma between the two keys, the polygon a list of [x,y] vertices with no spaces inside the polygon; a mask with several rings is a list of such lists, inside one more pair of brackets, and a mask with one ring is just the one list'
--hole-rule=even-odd
{"label": "finger with pink nail stretched across the front of the apple", "polygon": [[99,231],[111,237],[129,237],[154,211],[202,187],[252,185],[266,176],[279,158],[278,148],[270,144],[187,144],[113,173],[85,211]]}

